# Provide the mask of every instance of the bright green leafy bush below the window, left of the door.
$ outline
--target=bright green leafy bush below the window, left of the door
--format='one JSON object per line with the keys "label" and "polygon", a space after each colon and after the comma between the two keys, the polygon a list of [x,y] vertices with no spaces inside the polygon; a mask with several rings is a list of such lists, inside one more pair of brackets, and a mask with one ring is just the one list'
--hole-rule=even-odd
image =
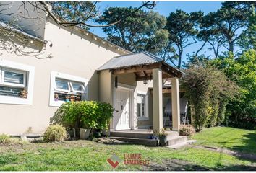
{"label": "bright green leafy bush below the window, left of the door", "polygon": [[51,123],[69,128],[107,129],[113,116],[113,107],[104,102],[66,102],[55,112]]}

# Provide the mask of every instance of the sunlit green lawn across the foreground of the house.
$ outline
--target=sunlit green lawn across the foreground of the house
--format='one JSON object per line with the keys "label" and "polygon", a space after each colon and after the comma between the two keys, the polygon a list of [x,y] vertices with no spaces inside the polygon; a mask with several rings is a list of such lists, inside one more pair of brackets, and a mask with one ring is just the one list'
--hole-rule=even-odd
{"label": "sunlit green lawn across the foreground of the house", "polygon": [[[218,146],[255,153],[255,148],[252,147],[255,143],[252,136],[255,135],[255,131],[235,128],[205,129],[195,136],[199,143],[178,150],[93,141],[0,146],[0,170],[256,170],[253,160],[198,148]],[[149,165],[132,166],[121,162],[114,169],[106,161],[112,154],[124,160],[124,154],[135,153],[141,154],[142,159],[147,159]]]}

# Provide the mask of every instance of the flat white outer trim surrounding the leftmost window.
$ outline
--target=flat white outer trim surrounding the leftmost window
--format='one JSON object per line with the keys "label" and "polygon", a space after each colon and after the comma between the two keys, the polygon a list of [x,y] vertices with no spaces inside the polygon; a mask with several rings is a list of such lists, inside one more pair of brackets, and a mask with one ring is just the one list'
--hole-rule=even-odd
{"label": "flat white outer trim surrounding the leftmost window", "polygon": [[[0,95],[0,103],[3,104],[15,104],[15,105],[32,105],[33,103],[33,89],[35,79],[35,67],[28,66],[22,63],[15,63],[0,59],[0,66],[4,68],[14,68],[18,71],[27,71],[27,98],[11,97]],[[26,82],[25,81],[25,82]],[[5,84],[6,86],[7,84]],[[9,83],[8,83],[9,85]]]}

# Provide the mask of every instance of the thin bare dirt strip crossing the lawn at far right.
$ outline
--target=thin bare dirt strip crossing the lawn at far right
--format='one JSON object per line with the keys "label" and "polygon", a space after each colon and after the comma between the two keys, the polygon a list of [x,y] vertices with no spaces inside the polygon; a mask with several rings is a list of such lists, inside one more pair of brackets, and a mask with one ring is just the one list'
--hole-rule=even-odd
{"label": "thin bare dirt strip crossing the lawn at far right", "polygon": [[216,151],[219,153],[223,153],[223,154],[229,154],[231,156],[237,156],[240,157],[242,159],[249,159],[252,161],[256,161],[256,155],[255,154],[244,154],[238,151],[231,151],[229,149],[226,148],[216,148],[216,147],[210,147],[210,146],[194,146],[194,148],[203,148],[203,149],[208,149],[210,151]]}

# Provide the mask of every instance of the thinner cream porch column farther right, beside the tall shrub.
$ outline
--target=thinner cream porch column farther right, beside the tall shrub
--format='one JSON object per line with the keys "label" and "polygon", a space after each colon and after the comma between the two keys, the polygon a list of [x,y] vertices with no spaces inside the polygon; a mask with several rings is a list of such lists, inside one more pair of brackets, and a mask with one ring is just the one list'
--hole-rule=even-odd
{"label": "thinner cream porch column farther right, beside the tall shrub", "polygon": [[179,131],[180,110],[179,110],[179,79],[171,78],[171,108],[172,108],[172,130]]}

